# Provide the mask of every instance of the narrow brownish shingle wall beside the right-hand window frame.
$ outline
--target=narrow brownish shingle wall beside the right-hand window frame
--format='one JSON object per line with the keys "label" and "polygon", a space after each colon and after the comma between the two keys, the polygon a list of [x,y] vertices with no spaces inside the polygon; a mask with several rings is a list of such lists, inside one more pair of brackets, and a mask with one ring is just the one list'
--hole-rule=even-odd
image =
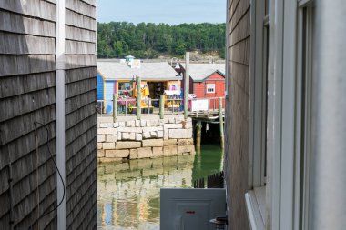
{"label": "narrow brownish shingle wall beside the right-hand window frame", "polygon": [[244,195],[248,188],[249,140],[249,0],[229,0],[226,107],[226,177],[229,229],[249,229]]}

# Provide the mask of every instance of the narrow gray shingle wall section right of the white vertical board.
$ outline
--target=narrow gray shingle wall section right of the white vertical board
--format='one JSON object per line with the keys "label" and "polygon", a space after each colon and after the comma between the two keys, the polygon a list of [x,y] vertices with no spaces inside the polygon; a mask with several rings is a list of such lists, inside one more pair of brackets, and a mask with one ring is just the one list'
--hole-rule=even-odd
{"label": "narrow gray shingle wall section right of the white vertical board", "polygon": [[66,0],[66,227],[97,228],[96,3]]}

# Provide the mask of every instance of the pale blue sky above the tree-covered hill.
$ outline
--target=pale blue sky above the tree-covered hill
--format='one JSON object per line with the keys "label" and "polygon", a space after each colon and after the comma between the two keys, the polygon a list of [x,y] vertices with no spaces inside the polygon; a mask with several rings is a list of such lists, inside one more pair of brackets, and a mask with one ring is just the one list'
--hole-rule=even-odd
{"label": "pale blue sky above the tree-covered hill", "polygon": [[224,23],[226,0],[97,0],[97,21]]}

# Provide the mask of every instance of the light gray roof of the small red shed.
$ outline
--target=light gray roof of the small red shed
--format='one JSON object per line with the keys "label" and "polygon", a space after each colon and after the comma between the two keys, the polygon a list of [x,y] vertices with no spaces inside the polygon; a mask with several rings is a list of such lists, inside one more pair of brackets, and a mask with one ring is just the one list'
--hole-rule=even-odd
{"label": "light gray roof of the small red shed", "polygon": [[193,64],[189,65],[189,75],[194,81],[202,81],[207,76],[219,71],[225,75],[225,64]]}

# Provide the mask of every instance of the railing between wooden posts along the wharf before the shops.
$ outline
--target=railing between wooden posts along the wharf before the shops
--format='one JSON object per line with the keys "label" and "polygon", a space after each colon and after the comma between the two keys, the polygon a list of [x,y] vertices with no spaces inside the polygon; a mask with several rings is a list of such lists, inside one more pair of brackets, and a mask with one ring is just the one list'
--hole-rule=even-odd
{"label": "railing between wooden posts along the wharf before the shops", "polygon": [[[136,98],[116,98],[113,100],[97,100],[97,113],[99,115],[131,116],[137,115]],[[220,103],[222,104],[221,106]],[[175,98],[141,99],[141,115],[179,115],[184,114],[184,100]],[[117,113],[114,114],[114,107]],[[188,99],[188,115],[219,115],[219,108],[225,108],[224,97],[193,98]]]}

